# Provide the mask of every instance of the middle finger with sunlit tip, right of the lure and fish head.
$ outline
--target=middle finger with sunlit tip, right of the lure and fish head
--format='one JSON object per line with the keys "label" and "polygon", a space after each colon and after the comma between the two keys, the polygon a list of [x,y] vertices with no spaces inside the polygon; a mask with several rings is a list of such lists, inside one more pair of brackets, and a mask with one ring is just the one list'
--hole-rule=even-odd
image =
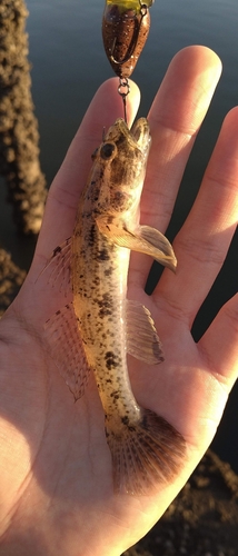
{"label": "middle finger with sunlit tip, right of the lure and fish head", "polygon": [[[185,167],[208,110],[221,63],[205,47],[189,47],[172,60],[148,119],[152,145],[141,198],[141,222],[165,232]],[[145,285],[151,261],[133,257],[132,281]]]}

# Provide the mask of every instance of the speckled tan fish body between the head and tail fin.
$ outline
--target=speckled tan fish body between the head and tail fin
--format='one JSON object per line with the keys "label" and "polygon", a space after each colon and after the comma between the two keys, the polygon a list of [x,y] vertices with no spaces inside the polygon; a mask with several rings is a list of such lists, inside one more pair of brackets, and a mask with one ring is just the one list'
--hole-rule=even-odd
{"label": "speckled tan fish body between the head and tail fin", "polygon": [[96,375],[103,408],[116,425],[117,416],[125,417],[128,407],[131,418],[132,413],[136,418],[138,415],[136,400],[131,405],[133,397],[127,373],[125,295],[129,250],[115,246],[98,230],[95,231],[92,248],[85,249],[81,244],[88,225],[89,219],[82,216],[80,234],[76,234],[72,241],[73,256],[77,252],[81,261],[76,265],[80,284],[77,270],[73,272],[73,306],[80,319],[85,350]]}

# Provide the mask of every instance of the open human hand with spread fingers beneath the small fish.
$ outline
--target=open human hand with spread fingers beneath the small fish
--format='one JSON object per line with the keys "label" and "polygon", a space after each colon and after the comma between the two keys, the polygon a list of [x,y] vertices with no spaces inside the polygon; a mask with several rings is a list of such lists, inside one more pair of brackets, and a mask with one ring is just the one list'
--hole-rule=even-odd
{"label": "open human hand with spread fingers beneath the small fish", "polygon": [[[171,62],[149,113],[152,148],[141,222],[165,232],[179,182],[220,75],[204,47]],[[219,312],[198,344],[190,328],[226,257],[237,224],[238,110],[226,118],[198,198],[177,236],[176,276],[165,270],[143,292],[151,260],[132,254],[129,298],[150,310],[166,361],[149,368],[129,359],[138,403],[186,438],[179,476],[148,496],[115,495],[110,453],[93,377],[75,404],[43,340],[43,322],[66,304],[40,272],[72,232],[77,202],[101,130],[122,116],[117,82],[99,89],[48,198],[26,282],[0,322],[0,555],[118,556],[162,515],[209,446],[237,378],[238,298]],[[129,122],[139,92],[131,85]]]}

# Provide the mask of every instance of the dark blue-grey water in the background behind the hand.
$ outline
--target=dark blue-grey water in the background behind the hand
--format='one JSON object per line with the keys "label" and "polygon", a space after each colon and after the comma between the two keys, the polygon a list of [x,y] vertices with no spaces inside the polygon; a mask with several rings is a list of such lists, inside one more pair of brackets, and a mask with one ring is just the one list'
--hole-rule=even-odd
{"label": "dark blue-grey water in the background behind the hand", "polygon": [[[103,1],[28,0],[32,93],[41,135],[41,166],[50,183],[99,85],[112,76],[106,59],[100,22]],[[190,157],[169,227],[172,237],[196,197],[200,179],[227,111],[238,103],[237,0],[156,0],[151,30],[133,73],[146,116],[173,54],[188,44],[206,44],[221,58],[224,73]],[[0,238],[16,262],[30,264],[34,240],[16,235],[11,209],[0,191]],[[237,291],[238,238],[194,327],[198,338],[218,308]],[[214,448],[238,471],[238,387],[230,396]]]}

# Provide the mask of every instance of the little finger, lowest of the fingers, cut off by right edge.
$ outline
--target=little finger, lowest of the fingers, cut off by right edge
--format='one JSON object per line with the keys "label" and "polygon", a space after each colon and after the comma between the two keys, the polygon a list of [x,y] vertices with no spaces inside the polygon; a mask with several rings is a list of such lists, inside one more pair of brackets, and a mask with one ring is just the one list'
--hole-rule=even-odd
{"label": "little finger, lowest of the fingers, cut off by right edge", "polygon": [[198,347],[210,370],[225,377],[231,389],[238,378],[238,294],[220,309]]}

